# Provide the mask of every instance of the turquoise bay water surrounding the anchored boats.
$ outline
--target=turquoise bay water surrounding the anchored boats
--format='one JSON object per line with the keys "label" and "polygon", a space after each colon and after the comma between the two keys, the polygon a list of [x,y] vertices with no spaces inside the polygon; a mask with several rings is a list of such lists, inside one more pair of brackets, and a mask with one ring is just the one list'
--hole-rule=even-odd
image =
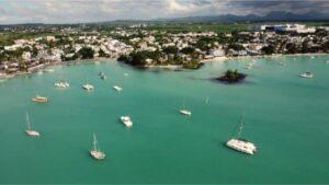
{"label": "turquoise bay water surrounding the anchored boats", "polygon": [[[329,183],[326,60],[264,58],[247,70],[250,59],[240,59],[183,72],[90,62],[1,82],[0,183]],[[245,71],[247,82],[211,80],[227,69]],[[315,79],[298,78],[307,69]],[[107,81],[99,79],[101,70]],[[55,89],[58,79],[71,86]],[[87,81],[93,92],[81,89]],[[33,103],[36,94],[50,102]],[[178,113],[183,104],[191,117]],[[38,139],[24,134],[26,111]],[[243,136],[258,146],[256,155],[224,146],[242,113]],[[118,122],[123,115],[132,116],[132,129]],[[93,132],[105,161],[88,153]]]}

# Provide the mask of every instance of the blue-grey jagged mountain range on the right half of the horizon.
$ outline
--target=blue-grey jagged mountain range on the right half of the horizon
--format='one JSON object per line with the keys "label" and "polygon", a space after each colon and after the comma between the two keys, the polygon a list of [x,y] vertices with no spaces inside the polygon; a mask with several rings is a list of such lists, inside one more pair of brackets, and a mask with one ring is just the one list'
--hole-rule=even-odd
{"label": "blue-grey jagged mountain range on the right half of the horizon", "polygon": [[[160,20],[158,20],[160,21]],[[177,19],[162,19],[161,21],[172,22],[280,22],[280,21],[329,21],[329,13],[307,12],[296,14],[291,12],[274,11],[264,16],[248,14],[248,15],[211,15],[211,16],[186,16]]]}

